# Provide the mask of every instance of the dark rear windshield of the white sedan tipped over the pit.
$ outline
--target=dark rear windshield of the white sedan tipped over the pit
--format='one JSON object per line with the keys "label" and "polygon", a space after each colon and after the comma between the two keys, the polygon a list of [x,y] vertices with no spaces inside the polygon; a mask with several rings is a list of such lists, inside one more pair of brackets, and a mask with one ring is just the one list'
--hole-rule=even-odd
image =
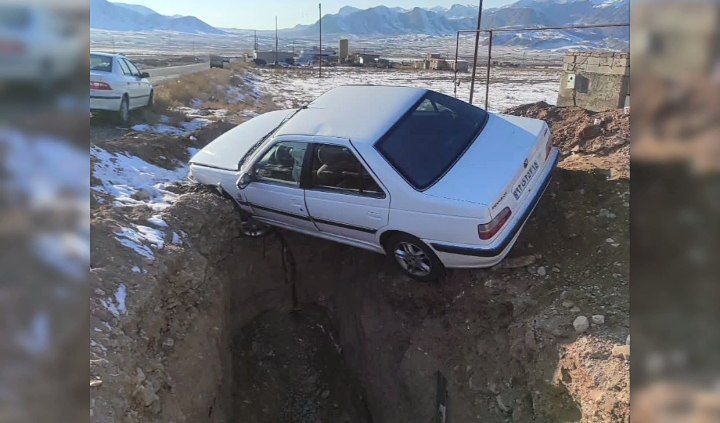
{"label": "dark rear windshield of the white sedan tipped over the pit", "polygon": [[413,187],[440,179],[485,126],[485,110],[429,91],[376,144],[385,159]]}

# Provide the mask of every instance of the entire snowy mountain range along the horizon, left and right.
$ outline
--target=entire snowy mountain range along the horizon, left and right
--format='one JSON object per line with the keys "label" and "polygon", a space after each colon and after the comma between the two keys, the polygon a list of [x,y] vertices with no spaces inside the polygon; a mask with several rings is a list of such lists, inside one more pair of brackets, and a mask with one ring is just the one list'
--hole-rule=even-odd
{"label": "entire snowy mountain range along the horizon, left and right", "polygon": [[[482,27],[526,28],[627,23],[629,19],[630,0],[518,0],[503,7],[483,10]],[[474,29],[476,23],[477,6],[462,4],[429,9],[386,6],[359,9],[344,6],[337,13],[322,17],[323,34],[331,38],[393,37],[408,34],[452,36],[461,29]],[[165,16],[144,6],[110,3],[106,0],[90,1],[90,26],[116,31],[225,33],[192,16]],[[313,38],[318,34],[318,22],[282,29],[280,33],[285,38]],[[627,28],[613,28],[499,33],[496,40],[503,45],[543,49],[582,46],[627,48],[629,31]]]}

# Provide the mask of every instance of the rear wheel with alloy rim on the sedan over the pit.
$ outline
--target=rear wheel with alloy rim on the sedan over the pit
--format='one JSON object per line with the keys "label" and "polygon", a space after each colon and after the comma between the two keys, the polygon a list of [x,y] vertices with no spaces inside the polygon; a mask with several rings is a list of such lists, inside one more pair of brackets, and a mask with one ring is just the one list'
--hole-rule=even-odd
{"label": "rear wheel with alloy rim on the sedan over the pit", "polygon": [[400,270],[415,280],[435,282],[445,275],[445,266],[435,252],[417,237],[393,235],[385,249]]}

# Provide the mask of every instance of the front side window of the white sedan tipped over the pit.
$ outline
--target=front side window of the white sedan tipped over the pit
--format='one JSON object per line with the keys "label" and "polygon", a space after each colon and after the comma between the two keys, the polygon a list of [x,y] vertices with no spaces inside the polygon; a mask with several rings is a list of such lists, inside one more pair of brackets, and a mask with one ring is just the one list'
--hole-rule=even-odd
{"label": "front side window of the white sedan tipped over the pit", "polygon": [[302,164],[308,144],[303,142],[279,142],[253,166],[257,181],[300,185]]}

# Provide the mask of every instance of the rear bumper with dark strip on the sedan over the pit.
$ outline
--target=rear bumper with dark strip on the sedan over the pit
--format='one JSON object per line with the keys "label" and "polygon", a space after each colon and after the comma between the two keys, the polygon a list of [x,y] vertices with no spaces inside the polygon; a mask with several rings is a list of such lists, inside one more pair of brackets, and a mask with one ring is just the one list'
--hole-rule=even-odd
{"label": "rear bumper with dark strip on the sedan over the pit", "polygon": [[423,241],[430,245],[446,267],[490,267],[502,261],[512,249],[520,235],[520,231],[523,226],[525,226],[525,222],[530,218],[533,210],[535,210],[535,206],[537,206],[537,203],[550,184],[553,170],[557,166],[560,158],[560,153],[557,149],[553,149],[551,154],[554,154],[554,157],[548,159],[549,165],[546,165],[543,170],[542,182],[538,184],[531,200],[526,203],[523,213],[518,219],[513,221],[512,226],[503,231],[502,237],[499,240],[488,246],[459,245],[432,240]]}

